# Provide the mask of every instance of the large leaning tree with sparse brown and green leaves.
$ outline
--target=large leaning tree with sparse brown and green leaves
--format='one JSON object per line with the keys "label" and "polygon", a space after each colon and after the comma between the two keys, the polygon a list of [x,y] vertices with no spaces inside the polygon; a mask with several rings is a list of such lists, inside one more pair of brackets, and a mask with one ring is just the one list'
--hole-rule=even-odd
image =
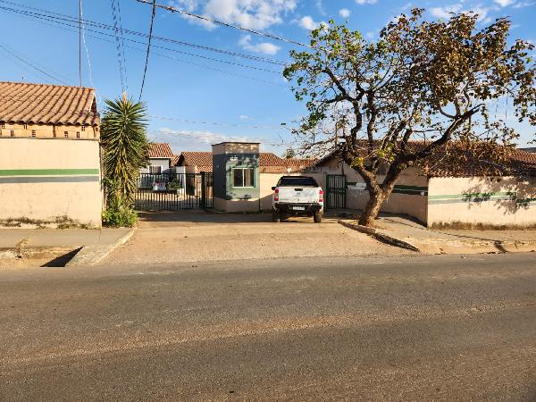
{"label": "large leaning tree with sparse brown and green leaves", "polygon": [[498,103],[536,124],[534,46],[507,45],[507,18],[477,29],[473,13],[448,21],[423,15],[400,15],[375,42],[330,21],[312,31],[309,49],[291,52],[284,71],[306,101],[308,114],[294,130],[301,147],[337,150],[359,172],[370,195],[359,219],[367,226],[410,166],[448,154],[459,164],[475,153],[507,158],[503,146],[517,134],[498,116]]}

